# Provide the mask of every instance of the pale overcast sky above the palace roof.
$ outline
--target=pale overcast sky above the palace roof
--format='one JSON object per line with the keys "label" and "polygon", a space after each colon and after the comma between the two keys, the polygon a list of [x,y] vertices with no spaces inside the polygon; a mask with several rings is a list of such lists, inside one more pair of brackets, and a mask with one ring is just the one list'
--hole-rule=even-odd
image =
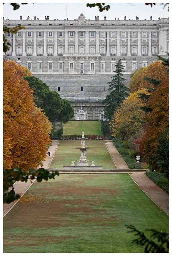
{"label": "pale overcast sky above the palace roof", "polygon": [[[5,1],[3,1],[5,2]],[[20,4],[20,8],[13,11],[13,7],[10,3],[5,3],[3,5],[3,17],[9,20],[20,20],[22,16],[23,20],[29,16],[30,20],[34,20],[34,16],[40,20],[44,20],[45,16],[49,16],[49,20],[59,19],[64,20],[68,18],[69,20],[77,19],[80,13],[83,13],[86,19],[94,20],[95,16],[99,15],[100,20],[114,20],[116,17],[119,20],[124,20],[124,16],[128,19],[136,20],[136,16],[139,20],[147,19],[149,20],[152,16],[153,20],[158,20],[158,18],[168,18],[169,12],[168,8],[156,3],[156,6],[145,5],[145,3],[138,3],[138,1],[127,3],[126,1],[120,1],[121,3],[107,3],[110,5],[108,11],[99,12],[98,7],[86,7],[86,3],[79,3],[81,1],[75,1],[75,3],[32,3],[31,1],[26,1],[27,5]],[[78,2],[78,3],[77,3]],[[137,2],[137,3],[136,3]]]}

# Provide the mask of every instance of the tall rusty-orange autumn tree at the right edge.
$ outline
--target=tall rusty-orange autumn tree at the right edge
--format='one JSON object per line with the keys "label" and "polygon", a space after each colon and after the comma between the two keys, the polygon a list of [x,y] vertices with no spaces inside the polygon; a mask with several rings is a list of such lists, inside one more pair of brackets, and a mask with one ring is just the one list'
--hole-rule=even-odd
{"label": "tall rusty-orange autumn tree at the right edge", "polygon": [[[162,61],[154,62],[145,71],[144,86],[149,96],[141,95],[145,101],[145,156],[152,168],[159,168],[156,160],[157,140],[169,127],[169,73]],[[142,83],[143,85],[143,83]]]}

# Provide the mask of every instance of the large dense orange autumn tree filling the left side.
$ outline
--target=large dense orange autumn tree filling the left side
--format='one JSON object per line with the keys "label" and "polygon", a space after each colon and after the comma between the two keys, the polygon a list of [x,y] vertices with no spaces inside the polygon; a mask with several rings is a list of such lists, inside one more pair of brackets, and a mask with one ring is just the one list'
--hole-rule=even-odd
{"label": "large dense orange autumn tree filling the left side", "polygon": [[42,166],[50,145],[51,123],[34,106],[33,90],[23,76],[28,70],[3,61],[3,167],[24,171]]}

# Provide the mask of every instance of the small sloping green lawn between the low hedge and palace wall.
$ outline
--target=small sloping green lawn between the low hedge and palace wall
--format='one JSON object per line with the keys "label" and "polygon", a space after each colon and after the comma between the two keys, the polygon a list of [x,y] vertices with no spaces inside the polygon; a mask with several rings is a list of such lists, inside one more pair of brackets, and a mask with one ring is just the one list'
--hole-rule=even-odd
{"label": "small sloping green lawn between the low hedge and palace wall", "polygon": [[100,121],[69,121],[63,124],[63,135],[102,135]]}

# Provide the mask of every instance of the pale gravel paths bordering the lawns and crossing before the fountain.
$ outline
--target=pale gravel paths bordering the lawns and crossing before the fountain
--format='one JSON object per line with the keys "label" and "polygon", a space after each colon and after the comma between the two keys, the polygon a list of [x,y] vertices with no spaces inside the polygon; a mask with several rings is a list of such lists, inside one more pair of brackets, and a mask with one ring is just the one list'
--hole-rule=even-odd
{"label": "pale gravel paths bordering the lawns and crossing before the fountain", "polygon": [[[58,142],[59,140],[53,140],[52,141],[52,146],[49,147],[49,150],[51,152],[50,156],[48,156],[47,153],[47,159],[44,161],[44,168],[45,169],[49,169],[50,163],[53,159],[53,156],[58,148]],[[155,185],[154,182],[152,182],[145,174],[144,171],[139,171],[139,172],[133,172],[131,173],[131,171],[129,170],[128,166],[126,165],[125,161],[123,160],[123,158],[121,157],[121,155],[119,154],[119,152],[117,151],[117,149],[112,145],[112,143],[110,142],[110,144],[108,145],[108,142],[106,143],[106,147],[112,157],[112,159],[114,160],[115,165],[117,166],[117,169],[128,169],[128,171],[115,171],[115,172],[95,172],[95,173],[129,173],[129,175],[131,176],[131,178],[135,181],[135,183],[143,190],[144,193],[147,194],[147,196],[149,196],[167,215],[169,215],[169,195],[166,194],[163,190],[161,190],[157,185]],[[67,173],[93,173],[93,172],[63,172],[63,171],[59,171],[59,173],[61,174],[67,174]],[[20,196],[22,196],[28,189],[29,187],[32,185],[32,183],[30,181],[28,181],[27,183],[25,182],[21,182],[18,181],[16,182],[13,186],[14,186],[14,190],[17,194],[19,194]],[[11,188],[9,189],[11,190]],[[3,216],[5,216],[8,211],[17,203],[16,202],[12,202],[10,204],[3,204]]]}

